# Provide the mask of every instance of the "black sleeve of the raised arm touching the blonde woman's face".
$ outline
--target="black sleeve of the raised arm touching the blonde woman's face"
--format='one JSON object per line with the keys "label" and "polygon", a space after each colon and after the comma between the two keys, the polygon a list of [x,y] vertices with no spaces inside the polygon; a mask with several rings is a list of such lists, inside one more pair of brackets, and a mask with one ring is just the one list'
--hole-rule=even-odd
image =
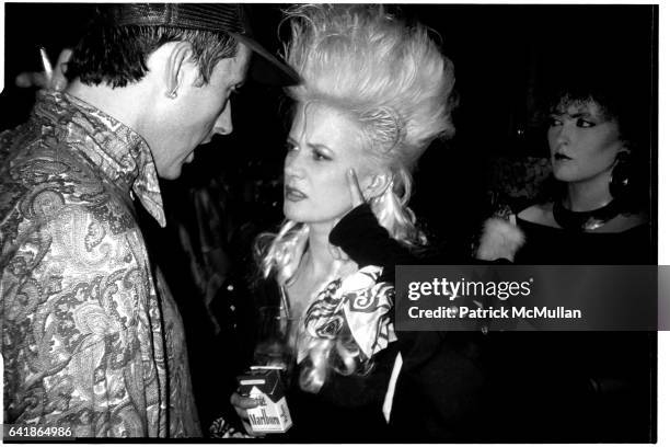
{"label": "black sleeve of the raised arm touching the blonde woman's face", "polygon": [[331,231],[330,242],[344,250],[360,267],[384,267],[384,279],[391,282],[396,265],[417,263],[416,256],[379,225],[368,204],[357,206],[343,217]]}

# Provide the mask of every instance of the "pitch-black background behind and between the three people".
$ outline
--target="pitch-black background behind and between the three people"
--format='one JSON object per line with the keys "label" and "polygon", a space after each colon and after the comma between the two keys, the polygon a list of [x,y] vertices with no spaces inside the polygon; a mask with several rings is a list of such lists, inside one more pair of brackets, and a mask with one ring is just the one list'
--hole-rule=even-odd
{"label": "pitch-black background behind and between the three people", "polygon": [[[34,102],[34,90],[13,87],[14,77],[41,70],[39,45],[55,61],[60,48],[76,42],[95,5],[5,3],[4,8],[0,129],[24,122]],[[257,39],[277,51],[278,37],[286,37],[277,32],[280,5],[247,8]],[[415,173],[411,203],[434,244],[454,259],[469,254],[477,228],[496,205],[490,192],[509,186],[497,184],[500,160],[522,162],[547,152],[542,101],[550,85],[566,74],[579,76],[597,67],[602,76],[620,82],[622,91],[639,93],[639,114],[649,123],[650,180],[656,185],[658,7],[413,4],[390,9],[431,27],[455,65],[457,135],[427,150]],[[245,362],[241,353],[250,334],[238,323],[252,319],[253,308],[230,291],[251,262],[253,237],[281,220],[287,111],[280,89],[250,80],[233,100],[234,133],[198,148],[196,160],[185,167],[180,180],[161,183],[168,228],[143,219],[148,242],[182,310],[204,425],[229,406],[234,374]],[[523,175],[505,182],[532,181]],[[221,272],[228,283],[213,305],[201,302],[188,273],[193,253],[184,250],[178,238],[180,229],[186,229],[197,239],[193,234],[201,222],[194,217],[193,202],[194,192],[203,190],[218,204],[215,230],[220,229],[218,243],[228,262]],[[656,204],[656,187],[651,191]],[[528,194],[508,198],[517,199],[516,206],[532,200]],[[210,323],[212,314],[219,328]]]}

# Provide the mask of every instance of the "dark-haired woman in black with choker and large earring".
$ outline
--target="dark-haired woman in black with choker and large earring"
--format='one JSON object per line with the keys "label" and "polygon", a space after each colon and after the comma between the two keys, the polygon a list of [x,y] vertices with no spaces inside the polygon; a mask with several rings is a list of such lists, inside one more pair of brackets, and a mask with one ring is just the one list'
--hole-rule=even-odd
{"label": "dark-haired woman in black with choker and large earring", "polygon": [[[553,194],[517,214],[516,226],[487,221],[480,259],[655,264],[649,188],[642,180],[645,163],[639,162],[647,146],[640,142],[648,137],[646,108],[633,105],[620,88],[607,87],[581,82],[555,96],[547,130]],[[646,171],[648,175],[648,164]],[[499,335],[493,351],[503,366],[494,369],[505,389],[513,389],[513,396],[499,394],[500,405],[513,414],[499,420],[504,437],[637,443],[654,438],[655,334]]]}

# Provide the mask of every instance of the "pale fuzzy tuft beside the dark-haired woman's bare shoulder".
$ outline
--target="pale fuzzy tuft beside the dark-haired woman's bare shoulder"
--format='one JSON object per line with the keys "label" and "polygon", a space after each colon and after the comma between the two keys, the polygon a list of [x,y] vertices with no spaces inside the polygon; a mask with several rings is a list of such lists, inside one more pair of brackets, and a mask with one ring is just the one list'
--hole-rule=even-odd
{"label": "pale fuzzy tuft beside the dark-haired woman's bare shoulder", "polygon": [[486,219],[475,256],[483,261],[506,259],[515,261],[515,254],[525,242],[523,231],[507,220]]}

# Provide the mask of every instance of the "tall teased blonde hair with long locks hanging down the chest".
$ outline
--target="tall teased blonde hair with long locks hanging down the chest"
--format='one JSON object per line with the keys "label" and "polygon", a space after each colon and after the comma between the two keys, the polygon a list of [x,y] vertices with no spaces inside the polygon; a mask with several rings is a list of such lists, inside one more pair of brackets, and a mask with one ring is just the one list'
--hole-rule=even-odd
{"label": "tall teased blonde hair with long locks hanging down the chest", "polygon": [[[382,5],[299,4],[286,11],[286,20],[291,41],[285,57],[303,80],[288,88],[288,95],[298,104],[334,107],[360,125],[366,154],[392,174],[390,186],[370,202],[373,213],[400,242],[425,244],[407,207],[411,171],[435,138],[453,134],[453,64],[425,26],[409,26]],[[289,220],[269,247],[262,242],[267,234],[259,239],[258,247],[265,245],[264,275],[274,273],[279,284],[290,279],[308,237],[305,225]],[[335,276],[334,271],[328,280]],[[330,370],[343,375],[360,370],[350,334],[324,340],[301,329],[299,343],[309,346],[309,362],[300,375],[303,389],[319,391]]]}

